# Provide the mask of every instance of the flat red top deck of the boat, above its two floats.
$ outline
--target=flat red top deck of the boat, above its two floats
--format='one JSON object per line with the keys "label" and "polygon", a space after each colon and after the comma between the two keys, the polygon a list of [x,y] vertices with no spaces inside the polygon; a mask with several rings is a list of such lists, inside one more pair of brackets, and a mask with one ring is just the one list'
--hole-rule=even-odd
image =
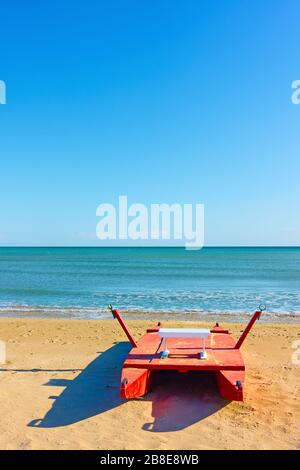
{"label": "flat red top deck of the boat, above its two floats", "polygon": [[157,333],[147,333],[132,348],[124,363],[124,368],[148,370],[245,370],[244,360],[239,349],[234,349],[236,341],[223,333],[211,333],[205,339],[207,359],[200,359],[202,340],[199,338],[168,338],[169,356],[162,359],[163,341]]}

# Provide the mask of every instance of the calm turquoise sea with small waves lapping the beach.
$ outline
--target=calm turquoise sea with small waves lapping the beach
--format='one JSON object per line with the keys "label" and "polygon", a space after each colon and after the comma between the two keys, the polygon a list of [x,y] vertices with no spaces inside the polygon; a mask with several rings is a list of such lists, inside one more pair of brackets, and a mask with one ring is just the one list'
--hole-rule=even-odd
{"label": "calm turquoise sea with small waves lapping the beach", "polygon": [[300,315],[300,248],[0,248],[0,315]]}

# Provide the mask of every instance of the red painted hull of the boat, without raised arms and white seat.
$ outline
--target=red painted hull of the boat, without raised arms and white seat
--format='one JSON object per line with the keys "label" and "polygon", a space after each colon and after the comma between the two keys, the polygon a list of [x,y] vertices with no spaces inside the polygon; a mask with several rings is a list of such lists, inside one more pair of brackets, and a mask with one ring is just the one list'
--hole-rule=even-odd
{"label": "red painted hull of the boat, without raised arms and white seat", "polygon": [[147,394],[155,370],[211,370],[216,374],[220,395],[226,400],[242,401],[244,360],[240,350],[235,349],[235,340],[227,330],[220,330],[212,332],[206,341],[206,360],[199,359],[199,340],[194,338],[170,338],[169,357],[162,359],[163,348],[157,331],[146,333],[123,364],[121,397],[137,398]]}

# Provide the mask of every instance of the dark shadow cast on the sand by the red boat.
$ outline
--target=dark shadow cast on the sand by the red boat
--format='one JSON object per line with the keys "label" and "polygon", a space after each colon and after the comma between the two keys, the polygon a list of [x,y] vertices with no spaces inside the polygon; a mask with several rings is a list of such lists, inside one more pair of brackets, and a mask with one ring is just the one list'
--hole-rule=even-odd
{"label": "dark shadow cast on the sand by the red boat", "polygon": [[[122,364],[129,350],[129,343],[116,343],[88,364],[75,379],[51,379],[47,382],[46,386],[65,388],[59,396],[49,397],[54,402],[44,418],[35,419],[28,426],[69,426],[126,406],[126,400],[120,399],[119,385]],[[151,432],[184,429],[228,404],[219,396],[214,374],[210,372],[157,372],[152,391],[138,400],[152,402],[153,422],[142,426]]]}

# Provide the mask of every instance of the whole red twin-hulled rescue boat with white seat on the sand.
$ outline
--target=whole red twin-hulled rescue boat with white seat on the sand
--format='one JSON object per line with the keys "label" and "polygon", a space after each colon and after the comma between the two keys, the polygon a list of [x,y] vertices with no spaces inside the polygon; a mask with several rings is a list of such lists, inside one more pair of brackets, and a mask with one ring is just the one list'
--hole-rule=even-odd
{"label": "whole red twin-hulled rescue boat with white seat on the sand", "polygon": [[121,398],[137,398],[148,393],[156,370],[209,370],[215,372],[223,398],[243,401],[245,363],[240,347],[263,309],[260,306],[254,313],[238,341],[218,323],[210,330],[162,328],[158,324],[147,329],[146,334],[135,341],[118,310],[110,306],[114,318],[132,345],[123,364]]}

